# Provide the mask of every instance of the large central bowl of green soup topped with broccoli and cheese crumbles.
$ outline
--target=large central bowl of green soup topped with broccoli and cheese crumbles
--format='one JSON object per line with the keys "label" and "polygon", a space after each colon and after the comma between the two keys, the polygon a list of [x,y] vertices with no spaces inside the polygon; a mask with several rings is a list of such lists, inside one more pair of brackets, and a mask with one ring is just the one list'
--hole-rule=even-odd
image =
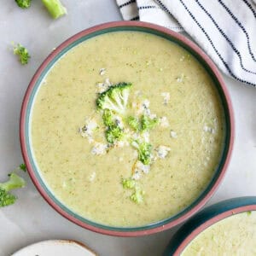
{"label": "large central bowl of green soup topped with broccoli and cheese crumbles", "polygon": [[20,115],[22,154],[44,199],[113,236],[152,234],[197,212],[224,177],[233,137],[210,58],[137,21],[94,26],[54,49]]}

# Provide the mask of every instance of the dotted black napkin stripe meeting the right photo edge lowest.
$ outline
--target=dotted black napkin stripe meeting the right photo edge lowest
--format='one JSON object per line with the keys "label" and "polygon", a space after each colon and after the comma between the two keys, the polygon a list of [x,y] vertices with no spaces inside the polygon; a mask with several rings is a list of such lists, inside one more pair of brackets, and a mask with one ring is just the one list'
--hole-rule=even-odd
{"label": "dotted black napkin stripe meeting the right photo edge lowest", "polygon": [[236,79],[239,82],[242,82],[244,84],[249,84],[249,85],[253,85],[254,87],[256,86],[253,83],[250,83],[246,80],[243,79],[239,79],[236,77],[236,75],[234,73],[232,73],[229,65],[224,61],[224,58],[222,57],[222,55],[220,55],[220,53],[218,52],[218,49],[216,49],[215,45],[212,43],[212,39],[209,37],[209,35],[207,34],[206,30],[201,26],[201,24],[198,22],[198,20],[195,19],[195,16],[192,15],[192,13],[189,11],[188,7],[185,5],[185,3],[183,3],[183,0],[179,0],[180,3],[182,3],[183,8],[188,12],[188,14],[190,15],[190,17],[192,18],[192,20],[195,21],[196,25],[199,26],[199,28],[201,29],[201,31],[205,34],[205,36],[207,37],[208,41],[210,42],[210,44],[212,45],[212,49],[214,49],[215,53],[218,55],[219,59],[222,61],[222,63],[224,64],[224,67],[227,68],[228,72],[230,73],[230,76],[234,79]]}

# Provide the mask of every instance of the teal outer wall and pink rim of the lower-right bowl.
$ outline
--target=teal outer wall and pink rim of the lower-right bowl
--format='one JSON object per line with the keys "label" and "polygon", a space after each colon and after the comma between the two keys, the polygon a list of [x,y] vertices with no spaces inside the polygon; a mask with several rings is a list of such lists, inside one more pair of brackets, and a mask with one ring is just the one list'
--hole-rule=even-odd
{"label": "teal outer wall and pink rim of the lower-right bowl", "polygon": [[212,224],[241,212],[256,211],[256,196],[243,196],[220,201],[195,214],[177,230],[166,247],[165,256],[178,256],[189,243]]}

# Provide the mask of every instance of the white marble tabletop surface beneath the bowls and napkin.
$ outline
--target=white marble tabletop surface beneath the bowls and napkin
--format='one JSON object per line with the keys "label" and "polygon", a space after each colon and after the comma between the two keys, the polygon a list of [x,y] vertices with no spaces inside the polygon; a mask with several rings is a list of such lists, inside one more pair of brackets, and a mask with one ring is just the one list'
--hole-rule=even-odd
{"label": "white marble tabletop surface beneath the bowls and napkin", "polygon": [[[102,22],[120,20],[114,0],[62,0],[68,15],[52,20],[40,1],[31,9],[18,9],[15,1],[0,8],[0,180],[22,162],[19,116],[27,84],[51,49],[74,33]],[[32,59],[22,67],[10,42],[24,44]],[[235,110],[236,142],[224,182],[209,203],[241,195],[256,195],[256,90],[224,78]],[[26,175],[25,175],[26,177]],[[160,255],[173,230],[139,238],[102,236],[70,223],[41,198],[26,177],[19,201],[0,209],[0,256],[44,239],[74,239],[101,255]]]}

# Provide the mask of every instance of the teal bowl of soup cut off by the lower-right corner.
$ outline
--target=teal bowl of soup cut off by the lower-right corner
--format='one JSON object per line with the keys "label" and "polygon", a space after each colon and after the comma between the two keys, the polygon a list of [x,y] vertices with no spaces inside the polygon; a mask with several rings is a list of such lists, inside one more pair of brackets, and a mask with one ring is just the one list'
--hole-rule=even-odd
{"label": "teal bowl of soup cut off by the lower-right corner", "polygon": [[255,255],[256,197],[218,202],[172,237],[165,255]]}

